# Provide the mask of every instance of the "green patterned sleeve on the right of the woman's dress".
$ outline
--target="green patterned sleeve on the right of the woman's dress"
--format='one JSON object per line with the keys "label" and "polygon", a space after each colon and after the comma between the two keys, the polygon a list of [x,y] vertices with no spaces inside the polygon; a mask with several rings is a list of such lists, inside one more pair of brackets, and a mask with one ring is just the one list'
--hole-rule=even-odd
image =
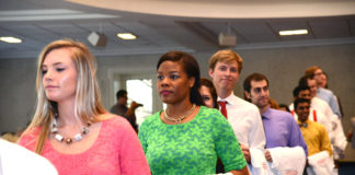
{"label": "green patterned sleeve on the right of the woman's dress", "polygon": [[218,114],[215,122],[215,144],[226,172],[245,167],[247,162],[229,122]]}

